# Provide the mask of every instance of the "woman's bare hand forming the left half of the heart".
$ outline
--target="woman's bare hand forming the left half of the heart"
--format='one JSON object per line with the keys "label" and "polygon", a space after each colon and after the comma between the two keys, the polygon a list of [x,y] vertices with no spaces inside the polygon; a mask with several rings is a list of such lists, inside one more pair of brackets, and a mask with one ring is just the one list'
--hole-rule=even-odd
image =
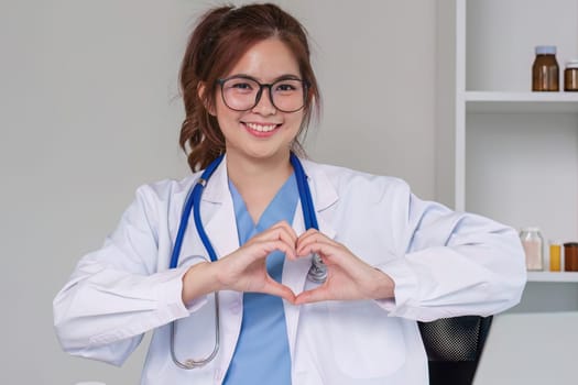
{"label": "woman's bare hand forming the left half of the heart", "polygon": [[285,221],[257,234],[233,253],[212,263],[192,266],[183,277],[183,301],[218,290],[271,294],[293,302],[295,294],[266,272],[266,256],[273,251],[295,258],[297,234]]}

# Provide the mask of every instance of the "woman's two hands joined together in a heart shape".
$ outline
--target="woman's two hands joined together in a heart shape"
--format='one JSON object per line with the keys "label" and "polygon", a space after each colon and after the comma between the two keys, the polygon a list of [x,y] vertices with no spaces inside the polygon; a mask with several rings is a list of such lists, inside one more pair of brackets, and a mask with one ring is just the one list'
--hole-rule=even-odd
{"label": "woman's two hands joined together in a heart shape", "polygon": [[[268,273],[266,258],[275,251],[285,254],[285,264],[303,263],[304,258],[309,262],[317,254],[327,268],[327,279],[295,294]],[[265,293],[295,305],[393,297],[394,284],[386,274],[370,266],[343,244],[318,230],[309,229],[297,237],[286,222],[280,222],[257,234],[218,263],[221,264],[220,276],[225,282],[223,287],[218,289]],[[307,263],[307,270],[309,266],[310,263]]]}

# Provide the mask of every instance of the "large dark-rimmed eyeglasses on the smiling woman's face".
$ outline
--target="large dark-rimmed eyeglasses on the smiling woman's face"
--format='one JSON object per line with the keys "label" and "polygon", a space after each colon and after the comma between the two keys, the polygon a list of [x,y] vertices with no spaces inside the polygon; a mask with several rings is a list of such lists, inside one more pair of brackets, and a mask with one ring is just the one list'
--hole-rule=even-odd
{"label": "large dark-rimmed eyeglasses on the smiling woman's face", "polygon": [[286,77],[271,84],[261,84],[249,76],[236,75],[218,79],[225,105],[235,111],[248,111],[261,100],[263,88],[269,89],[269,100],[282,112],[296,112],[305,106],[308,84]]}

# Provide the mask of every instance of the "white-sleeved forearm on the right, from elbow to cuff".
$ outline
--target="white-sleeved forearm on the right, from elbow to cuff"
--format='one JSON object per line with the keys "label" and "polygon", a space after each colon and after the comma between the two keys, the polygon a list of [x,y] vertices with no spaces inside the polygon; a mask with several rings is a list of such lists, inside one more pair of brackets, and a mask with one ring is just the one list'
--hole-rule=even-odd
{"label": "white-sleeved forearm on the right, from elbow to cuff", "polygon": [[418,320],[503,311],[517,304],[525,283],[514,241],[430,248],[380,268],[395,280],[392,315]]}

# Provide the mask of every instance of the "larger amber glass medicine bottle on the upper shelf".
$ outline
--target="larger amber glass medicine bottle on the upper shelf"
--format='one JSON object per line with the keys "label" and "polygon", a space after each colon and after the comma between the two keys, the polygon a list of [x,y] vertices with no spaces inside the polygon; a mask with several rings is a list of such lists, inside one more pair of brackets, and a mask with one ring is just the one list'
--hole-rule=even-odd
{"label": "larger amber glass medicine bottle on the upper shelf", "polygon": [[533,91],[558,91],[559,67],[556,61],[555,45],[538,45],[535,47],[536,58],[532,65]]}

